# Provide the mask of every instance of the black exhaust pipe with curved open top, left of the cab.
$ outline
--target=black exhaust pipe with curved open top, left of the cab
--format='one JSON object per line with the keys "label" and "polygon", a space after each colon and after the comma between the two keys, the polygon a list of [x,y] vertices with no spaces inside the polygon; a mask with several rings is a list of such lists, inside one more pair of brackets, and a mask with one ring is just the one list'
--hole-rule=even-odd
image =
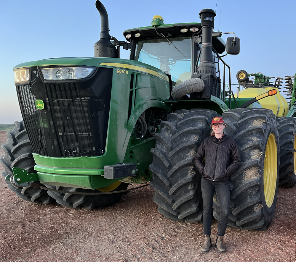
{"label": "black exhaust pipe with curved open top, left of the cab", "polygon": [[94,45],[95,57],[116,57],[116,48],[110,41],[107,11],[99,0],[96,1],[96,8],[101,17],[101,33],[100,40]]}

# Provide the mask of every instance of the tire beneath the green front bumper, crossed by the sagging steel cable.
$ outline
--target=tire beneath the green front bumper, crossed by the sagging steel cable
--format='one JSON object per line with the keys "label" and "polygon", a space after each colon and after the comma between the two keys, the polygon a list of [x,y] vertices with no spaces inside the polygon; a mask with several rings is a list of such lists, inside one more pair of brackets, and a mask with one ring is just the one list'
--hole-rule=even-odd
{"label": "tire beneath the green front bumper, crossed by the sagging steel cable", "polygon": [[[111,185],[109,187],[110,190],[105,188],[104,192],[126,190],[127,186],[129,185],[124,182],[119,182],[119,183],[115,182],[115,183],[114,185]],[[46,186],[48,188],[53,188],[53,189],[63,190],[63,191],[71,191],[73,193],[101,192],[100,190],[82,189],[82,188],[74,188],[74,187],[59,187],[59,186],[49,186],[49,185],[46,185]],[[116,188],[114,189],[114,187]],[[59,193],[55,191],[48,191],[48,194],[52,198],[54,198],[57,203],[59,203],[62,206],[77,208],[77,209],[84,208],[86,210],[90,210],[94,208],[103,209],[105,207],[112,206],[113,204],[118,203],[120,201],[121,196],[124,193],[116,193],[116,194],[113,193],[113,194],[106,194],[106,195],[84,195],[84,194],[76,195],[76,194],[70,194],[70,193]]]}

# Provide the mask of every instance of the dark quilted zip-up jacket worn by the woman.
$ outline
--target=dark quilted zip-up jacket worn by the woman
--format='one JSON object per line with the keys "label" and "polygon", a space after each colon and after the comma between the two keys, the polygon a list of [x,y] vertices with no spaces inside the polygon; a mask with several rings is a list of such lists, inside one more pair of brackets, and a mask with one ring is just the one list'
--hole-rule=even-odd
{"label": "dark quilted zip-up jacket worn by the woman", "polygon": [[[204,157],[205,162],[203,164]],[[239,148],[235,140],[224,133],[219,143],[215,135],[210,135],[201,142],[197,149],[194,164],[204,179],[227,180],[241,164]]]}

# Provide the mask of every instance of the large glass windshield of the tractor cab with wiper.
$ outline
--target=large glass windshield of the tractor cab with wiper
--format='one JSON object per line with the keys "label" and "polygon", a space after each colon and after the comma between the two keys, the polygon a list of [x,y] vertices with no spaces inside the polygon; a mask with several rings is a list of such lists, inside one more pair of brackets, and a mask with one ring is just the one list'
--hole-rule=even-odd
{"label": "large glass windshield of the tractor cab with wiper", "polygon": [[[170,43],[171,41],[172,43]],[[191,38],[138,41],[135,61],[150,64],[171,75],[176,84],[191,78]]]}

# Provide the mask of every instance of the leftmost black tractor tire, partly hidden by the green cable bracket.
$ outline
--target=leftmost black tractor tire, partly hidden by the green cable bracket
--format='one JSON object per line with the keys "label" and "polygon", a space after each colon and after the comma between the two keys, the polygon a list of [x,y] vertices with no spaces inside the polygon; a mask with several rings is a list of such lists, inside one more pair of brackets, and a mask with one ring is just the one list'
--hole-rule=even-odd
{"label": "leftmost black tractor tire, partly hidden by the green cable bracket", "polygon": [[[33,150],[24,123],[23,121],[15,121],[14,124],[14,129],[11,132],[6,132],[8,137],[6,144],[1,145],[4,156],[0,159],[0,163],[4,167],[2,173],[4,177],[8,174],[13,174],[13,167],[25,169],[29,173],[36,172],[34,171],[35,161],[32,155]],[[35,183],[40,184],[39,181],[35,181]],[[14,191],[19,198],[27,201],[41,204],[49,204],[53,201],[47,194],[47,190],[44,189],[15,187],[13,185],[8,185],[8,187]]]}

